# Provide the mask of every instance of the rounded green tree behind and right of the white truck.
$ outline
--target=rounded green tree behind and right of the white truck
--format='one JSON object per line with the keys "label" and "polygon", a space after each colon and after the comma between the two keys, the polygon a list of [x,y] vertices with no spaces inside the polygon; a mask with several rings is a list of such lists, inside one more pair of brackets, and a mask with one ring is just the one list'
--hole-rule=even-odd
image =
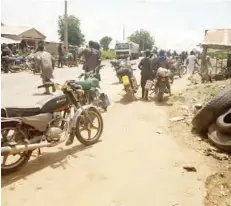
{"label": "rounded green tree behind and right of the white truck", "polygon": [[131,36],[128,37],[128,39],[132,42],[139,44],[140,49],[142,50],[151,50],[155,44],[155,40],[151,36],[150,32],[143,29],[135,31],[133,34],[131,34]]}

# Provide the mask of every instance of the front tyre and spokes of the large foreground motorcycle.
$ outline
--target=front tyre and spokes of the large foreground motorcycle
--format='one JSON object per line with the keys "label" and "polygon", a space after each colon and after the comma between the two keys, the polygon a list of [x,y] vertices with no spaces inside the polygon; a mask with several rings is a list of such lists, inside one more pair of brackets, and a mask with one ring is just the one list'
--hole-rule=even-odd
{"label": "front tyre and spokes of the large foreground motorcycle", "polygon": [[[87,119],[87,117],[84,116],[83,114],[78,118],[76,122],[76,137],[83,145],[86,145],[86,146],[90,146],[90,145],[97,143],[103,132],[103,118],[100,112],[95,108],[90,108],[88,109],[88,115],[89,115],[89,119]],[[94,125],[89,126],[89,124],[91,124],[90,121],[94,121],[96,119],[99,122],[98,127],[94,128],[93,127]],[[89,129],[89,127],[91,128]],[[89,131],[91,131],[91,129],[97,129],[97,133],[93,137],[93,139],[89,138],[89,134],[91,133]],[[84,130],[87,130],[88,139],[85,139],[83,135],[81,134],[81,132],[83,132]]]}

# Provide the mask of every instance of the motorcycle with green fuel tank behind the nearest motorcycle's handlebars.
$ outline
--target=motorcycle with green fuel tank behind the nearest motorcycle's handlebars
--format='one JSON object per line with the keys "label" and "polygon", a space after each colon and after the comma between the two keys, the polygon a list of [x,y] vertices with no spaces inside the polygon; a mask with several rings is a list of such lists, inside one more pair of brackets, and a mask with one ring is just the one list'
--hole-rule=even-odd
{"label": "motorcycle with green fuel tank behind the nearest motorcycle's handlebars", "polygon": [[[107,94],[100,91],[100,74],[99,70],[104,67],[104,65],[98,66],[95,71],[82,73],[79,76],[77,83],[83,88],[84,95],[81,99],[82,104],[91,104],[101,107],[104,111],[107,111],[108,106],[110,105],[109,98]],[[97,72],[98,71],[98,72]],[[84,77],[84,80],[81,80]]]}

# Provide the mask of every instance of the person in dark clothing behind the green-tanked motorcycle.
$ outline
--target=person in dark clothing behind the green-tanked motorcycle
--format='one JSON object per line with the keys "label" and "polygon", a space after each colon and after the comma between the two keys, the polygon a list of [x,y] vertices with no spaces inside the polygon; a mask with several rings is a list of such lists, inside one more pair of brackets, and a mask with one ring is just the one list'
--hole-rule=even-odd
{"label": "person in dark clothing behind the green-tanked motorcycle", "polygon": [[90,72],[100,65],[100,54],[96,49],[94,49],[95,43],[93,41],[89,41],[88,45],[89,48],[84,49],[78,54],[78,58],[83,56],[85,59],[85,63],[83,65],[85,72]]}

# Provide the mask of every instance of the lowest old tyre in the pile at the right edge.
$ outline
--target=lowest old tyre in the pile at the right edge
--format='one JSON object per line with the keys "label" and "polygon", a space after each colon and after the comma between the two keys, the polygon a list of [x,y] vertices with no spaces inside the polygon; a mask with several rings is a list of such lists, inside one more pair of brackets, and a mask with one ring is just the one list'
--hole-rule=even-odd
{"label": "lowest old tyre in the pile at the right edge", "polygon": [[209,127],[208,138],[218,148],[229,153],[231,152],[231,133],[230,134],[221,133],[220,131],[218,131],[217,125],[212,124]]}

